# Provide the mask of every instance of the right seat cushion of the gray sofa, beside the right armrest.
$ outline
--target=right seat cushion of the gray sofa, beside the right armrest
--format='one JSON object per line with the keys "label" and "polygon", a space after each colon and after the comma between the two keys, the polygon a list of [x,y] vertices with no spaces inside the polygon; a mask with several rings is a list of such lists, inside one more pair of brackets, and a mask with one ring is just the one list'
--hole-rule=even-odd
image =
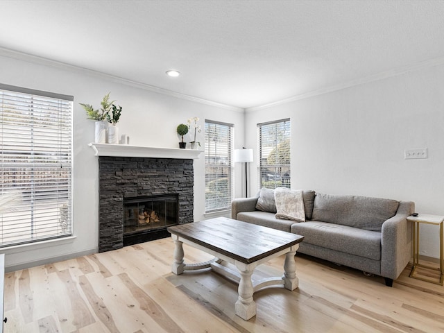
{"label": "right seat cushion of the gray sofa, beside the right armrest", "polygon": [[294,234],[304,236],[306,244],[330,248],[359,257],[381,259],[381,232],[319,221],[293,223],[290,230]]}

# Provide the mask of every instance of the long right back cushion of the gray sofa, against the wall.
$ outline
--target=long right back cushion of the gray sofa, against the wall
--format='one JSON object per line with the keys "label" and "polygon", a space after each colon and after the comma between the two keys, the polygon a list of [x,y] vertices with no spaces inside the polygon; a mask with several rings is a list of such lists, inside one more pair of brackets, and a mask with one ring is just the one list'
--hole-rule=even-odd
{"label": "long right back cushion of the gray sofa, against the wall", "polygon": [[382,223],[395,216],[398,205],[391,199],[316,193],[311,219],[380,232]]}

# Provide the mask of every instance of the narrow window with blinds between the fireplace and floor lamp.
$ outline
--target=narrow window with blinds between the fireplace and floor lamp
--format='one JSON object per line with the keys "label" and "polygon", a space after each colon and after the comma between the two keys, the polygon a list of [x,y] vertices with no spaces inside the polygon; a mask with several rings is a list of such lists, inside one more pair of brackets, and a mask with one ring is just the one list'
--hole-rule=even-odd
{"label": "narrow window with blinds between the fireplace and floor lamp", "polygon": [[230,210],[233,126],[205,120],[205,212]]}

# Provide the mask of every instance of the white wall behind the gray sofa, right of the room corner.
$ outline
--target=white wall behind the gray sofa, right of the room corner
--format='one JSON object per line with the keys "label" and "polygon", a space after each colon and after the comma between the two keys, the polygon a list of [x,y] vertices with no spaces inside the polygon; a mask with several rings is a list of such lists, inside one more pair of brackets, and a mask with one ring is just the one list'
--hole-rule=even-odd
{"label": "white wall behind the gray sofa, right of the room corner", "polygon": [[[411,200],[416,212],[444,215],[443,65],[247,110],[246,146],[256,147],[257,123],[284,118],[293,189]],[[404,160],[407,148],[429,157]],[[250,171],[256,193],[257,165]],[[421,225],[420,236],[420,254],[439,257],[438,228]]]}

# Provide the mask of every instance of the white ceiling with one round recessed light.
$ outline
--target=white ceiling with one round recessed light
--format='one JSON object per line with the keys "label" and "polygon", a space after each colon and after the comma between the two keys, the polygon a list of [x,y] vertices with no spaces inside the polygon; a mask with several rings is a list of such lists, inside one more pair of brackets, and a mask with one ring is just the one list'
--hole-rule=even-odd
{"label": "white ceiling with one round recessed light", "polygon": [[3,50],[239,108],[444,58],[441,0],[3,0],[0,8]]}

